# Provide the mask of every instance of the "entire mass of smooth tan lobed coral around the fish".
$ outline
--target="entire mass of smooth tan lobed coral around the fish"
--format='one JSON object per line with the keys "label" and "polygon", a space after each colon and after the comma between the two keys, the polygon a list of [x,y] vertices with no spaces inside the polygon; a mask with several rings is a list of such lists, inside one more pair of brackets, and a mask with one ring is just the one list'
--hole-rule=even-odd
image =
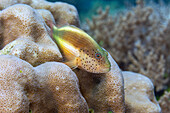
{"label": "entire mass of smooth tan lobed coral around the fish", "polygon": [[[71,70],[61,63],[62,54],[50,37],[46,20],[57,26],[79,27],[74,6],[44,0],[2,0],[0,10],[0,112],[161,112],[151,81],[137,73],[122,73],[111,52],[111,70],[105,74]],[[136,81],[139,78],[141,82]]]}

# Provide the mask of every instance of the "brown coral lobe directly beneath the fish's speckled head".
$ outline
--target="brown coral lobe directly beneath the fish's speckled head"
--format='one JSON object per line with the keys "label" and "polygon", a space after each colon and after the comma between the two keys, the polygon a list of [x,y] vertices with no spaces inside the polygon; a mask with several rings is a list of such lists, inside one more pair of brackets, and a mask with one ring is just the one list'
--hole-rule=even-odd
{"label": "brown coral lobe directly beneath the fish's speckled head", "polygon": [[75,70],[80,90],[89,108],[95,113],[124,113],[124,89],[121,70],[109,54],[111,70],[106,74],[93,74]]}

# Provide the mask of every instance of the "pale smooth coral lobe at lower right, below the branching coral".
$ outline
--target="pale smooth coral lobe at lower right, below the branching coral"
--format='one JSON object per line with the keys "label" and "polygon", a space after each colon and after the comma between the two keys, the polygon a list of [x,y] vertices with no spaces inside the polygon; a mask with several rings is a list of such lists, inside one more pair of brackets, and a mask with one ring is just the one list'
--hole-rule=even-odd
{"label": "pale smooth coral lobe at lower right, below the branching coral", "polygon": [[126,113],[161,113],[154,86],[144,75],[123,71]]}

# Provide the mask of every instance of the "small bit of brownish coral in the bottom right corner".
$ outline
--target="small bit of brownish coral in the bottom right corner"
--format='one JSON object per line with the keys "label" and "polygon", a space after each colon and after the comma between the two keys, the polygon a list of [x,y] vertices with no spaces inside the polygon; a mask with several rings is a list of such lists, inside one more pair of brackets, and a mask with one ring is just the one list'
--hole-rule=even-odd
{"label": "small bit of brownish coral in the bottom right corner", "polygon": [[159,100],[159,105],[162,108],[162,113],[170,113],[170,92],[165,92]]}

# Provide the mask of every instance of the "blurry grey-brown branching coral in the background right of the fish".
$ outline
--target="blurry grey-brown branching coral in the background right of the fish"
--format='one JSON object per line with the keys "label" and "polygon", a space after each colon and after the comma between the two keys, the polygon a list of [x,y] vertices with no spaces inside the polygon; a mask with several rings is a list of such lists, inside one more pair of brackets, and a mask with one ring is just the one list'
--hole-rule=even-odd
{"label": "blurry grey-brown branching coral in the background right of the fish", "polygon": [[[145,6],[142,0],[137,4],[133,10],[114,18],[109,15],[109,8],[99,9],[98,15],[87,21],[88,32],[110,52],[122,70],[144,74],[152,80],[156,91],[164,90],[170,80],[170,20],[161,7],[158,10]],[[164,77],[166,74],[168,77]]]}

